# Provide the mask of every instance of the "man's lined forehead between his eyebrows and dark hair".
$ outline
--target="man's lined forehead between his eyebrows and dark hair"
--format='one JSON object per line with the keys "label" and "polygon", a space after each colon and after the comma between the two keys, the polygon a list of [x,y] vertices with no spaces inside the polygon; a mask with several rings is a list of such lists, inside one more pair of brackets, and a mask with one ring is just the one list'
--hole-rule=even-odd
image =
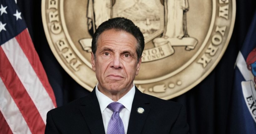
{"label": "man's lined forehead between his eyebrows and dark hair", "polygon": [[136,38],[125,31],[110,29],[102,32],[97,42],[97,48],[113,46],[113,47],[131,47],[136,49]]}

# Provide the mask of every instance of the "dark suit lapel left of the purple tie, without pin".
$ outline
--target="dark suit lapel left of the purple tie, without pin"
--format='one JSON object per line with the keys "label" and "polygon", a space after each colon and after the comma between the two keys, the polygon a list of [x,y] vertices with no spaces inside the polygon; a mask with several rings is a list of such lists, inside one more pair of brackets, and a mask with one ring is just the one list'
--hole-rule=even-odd
{"label": "dark suit lapel left of the purple tie, without pin", "polygon": [[95,93],[95,88],[81,103],[80,111],[91,131],[91,134],[105,133],[100,105]]}

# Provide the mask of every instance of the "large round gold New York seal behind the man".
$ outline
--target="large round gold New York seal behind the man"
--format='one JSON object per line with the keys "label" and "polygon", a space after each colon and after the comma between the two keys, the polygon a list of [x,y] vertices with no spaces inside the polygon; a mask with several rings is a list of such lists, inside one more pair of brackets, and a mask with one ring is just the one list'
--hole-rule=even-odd
{"label": "large round gold New York seal behind the man", "polygon": [[170,99],[201,82],[217,65],[230,40],[235,0],[42,0],[44,32],[65,71],[87,90],[91,40],[112,17],[140,27],[145,49],[134,83],[141,92]]}

